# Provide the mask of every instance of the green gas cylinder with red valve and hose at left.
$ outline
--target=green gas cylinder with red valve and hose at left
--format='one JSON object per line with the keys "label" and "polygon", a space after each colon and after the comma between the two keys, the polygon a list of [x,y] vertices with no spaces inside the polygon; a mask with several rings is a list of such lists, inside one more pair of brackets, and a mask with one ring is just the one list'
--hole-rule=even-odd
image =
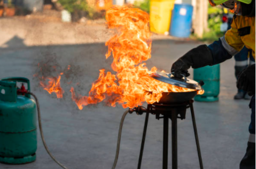
{"label": "green gas cylinder with red valve and hose at left", "polygon": [[29,94],[22,95],[17,82],[27,84],[24,77],[0,79],[0,162],[24,164],[36,160],[37,110]]}

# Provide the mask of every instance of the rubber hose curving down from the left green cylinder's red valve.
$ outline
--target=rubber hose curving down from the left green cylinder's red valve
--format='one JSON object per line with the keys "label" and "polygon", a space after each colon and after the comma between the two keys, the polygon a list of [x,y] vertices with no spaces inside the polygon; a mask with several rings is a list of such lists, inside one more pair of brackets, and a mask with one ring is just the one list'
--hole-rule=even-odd
{"label": "rubber hose curving down from the left green cylinder's red valve", "polygon": [[37,115],[38,115],[38,124],[39,124],[39,129],[40,129],[40,134],[41,134],[41,138],[43,141],[43,144],[45,146],[45,150],[47,151],[47,153],[50,155],[50,157],[58,164],[60,165],[62,168],[64,169],[68,169],[66,166],[64,166],[63,164],[61,164],[59,161],[56,160],[56,158],[54,158],[54,156],[52,155],[52,153],[50,152],[50,150],[48,149],[46,143],[45,143],[45,137],[44,137],[44,133],[43,133],[43,128],[42,128],[42,122],[41,122],[41,113],[40,113],[40,106],[39,106],[39,102],[37,99],[37,96],[34,93],[28,92],[28,94],[32,95],[35,100],[36,100],[36,104],[37,104]]}

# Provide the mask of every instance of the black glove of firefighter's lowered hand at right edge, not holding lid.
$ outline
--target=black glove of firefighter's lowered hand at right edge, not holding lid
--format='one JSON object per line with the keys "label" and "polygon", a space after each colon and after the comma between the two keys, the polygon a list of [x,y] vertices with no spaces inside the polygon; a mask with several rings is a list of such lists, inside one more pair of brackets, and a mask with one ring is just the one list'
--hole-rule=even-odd
{"label": "black glove of firefighter's lowered hand at right edge, not holding lid", "polygon": [[249,96],[255,94],[255,64],[239,73],[236,86],[238,89],[248,92]]}

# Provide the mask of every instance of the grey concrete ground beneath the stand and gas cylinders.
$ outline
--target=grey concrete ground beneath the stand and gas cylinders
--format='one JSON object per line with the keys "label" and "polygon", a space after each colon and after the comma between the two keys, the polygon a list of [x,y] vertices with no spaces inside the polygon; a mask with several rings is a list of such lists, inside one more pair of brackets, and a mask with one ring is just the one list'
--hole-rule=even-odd
{"label": "grey concrete ground beneath the stand and gas cylinders", "polygon": [[[72,80],[82,95],[90,90],[97,79],[98,70],[110,70],[111,58],[105,60],[104,43],[80,43],[60,45],[18,44],[0,46],[0,77],[21,76],[31,80],[31,91],[39,98],[45,139],[54,156],[70,169],[110,169],[114,160],[121,106],[105,107],[103,104],[78,110],[70,99]],[[18,45],[16,45],[18,44]],[[152,58],[147,66],[169,70],[171,64],[199,43],[194,41],[154,40]],[[33,74],[37,63],[57,64],[60,69],[71,65],[73,72],[62,86],[63,99],[49,95],[38,86]],[[53,72],[54,73],[54,72]],[[192,78],[193,75],[190,77]],[[233,100],[236,92],[234,60],[221,64],[219,102],[195,102],[194,110],[205,169],[238,169],[244,156],[250,109],[248,100]],[[75,84],[79,82],[79,85]],[[116,168],[136,168],[145,115],[128,114],[121,139],[119,161]],[[162,120],[150,115],[142,169],[162,167]],[[1,169],[57,169],[60,168],[46,153],[38,133],[37,160],[26,165],[4,165]],[[169,143],[170,142],[169,137]],[[169,144],[169,168],[171,168],[171,144]],[[178,168],[199,168],[190,111],[185,120],[178,120]]]}

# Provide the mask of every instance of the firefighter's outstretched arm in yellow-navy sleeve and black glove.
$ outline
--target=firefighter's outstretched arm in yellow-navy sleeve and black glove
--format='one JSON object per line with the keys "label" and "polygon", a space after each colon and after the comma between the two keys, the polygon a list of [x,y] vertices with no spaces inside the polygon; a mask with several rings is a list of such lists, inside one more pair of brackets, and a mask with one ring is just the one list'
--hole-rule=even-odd
{"label": "firefighter's outstretched arm in yellow-navy sleeve and black glove", "polygon": [[215,65],[230,59],[233,55],[238,53],[244,46],[236,26],[236,17],[234,15],[229,29],[224,37],[214,41],[208,47],[200,45],[188,51],[185,55],[180,57],[172,64],[171,72],[174,76],[181,78],[181,74],[189,76],[188,69],[201,68],[207,65]]}

